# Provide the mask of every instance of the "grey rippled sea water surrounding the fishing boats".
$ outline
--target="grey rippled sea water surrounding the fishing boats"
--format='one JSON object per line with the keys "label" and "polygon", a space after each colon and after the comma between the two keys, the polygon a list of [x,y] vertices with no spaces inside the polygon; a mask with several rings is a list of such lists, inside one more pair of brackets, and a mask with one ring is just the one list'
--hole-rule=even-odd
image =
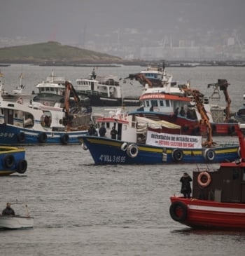
{"label": "grey rippled sea water surrounding the fishing boats", "polygon": [[[24,75],[25,90],[52,69],[75,83],[90,67],[1,68],[13,90]],[[100,67],[98,74],[126,77],[142,67]],[[174,79],[207,93],[207,83],[227,79],[232,109],[243,103],[244,67],[169,68]],[[123,84],[125,95],[141,93],[138,83]],[[222,95],[223,96],[223,95]],[[129,108],[129,109],[132,109]],[[105,112],[94,108],[94,112]],[[236,140],[236,138],[216,138]],[[27,202],[34,229],[0,231],[0,255],[244,255],[245,233],[194,231],[169,216],[169,196],[179,194],[183,172],[195,165],[94,166],[80,146],[26,147],[25,175],[0,177],[0,208],[6,201]],[[217,168],[217,165],[209,168]],[[19,213],[19,205],[13,204]],[[20,208],[21,209],[21,208]]]}

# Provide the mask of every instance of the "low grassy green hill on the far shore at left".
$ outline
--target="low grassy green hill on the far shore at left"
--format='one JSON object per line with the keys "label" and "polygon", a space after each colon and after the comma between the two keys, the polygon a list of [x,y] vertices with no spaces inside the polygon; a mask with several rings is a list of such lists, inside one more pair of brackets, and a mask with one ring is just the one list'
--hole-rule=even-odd
{"label": "low grassy green hill on the far shore at left", "polygon": [[49,41],[25,46],[0,48],[0,62],[2,63],[117,63],[119,57],[97,53],[61,43]]}

